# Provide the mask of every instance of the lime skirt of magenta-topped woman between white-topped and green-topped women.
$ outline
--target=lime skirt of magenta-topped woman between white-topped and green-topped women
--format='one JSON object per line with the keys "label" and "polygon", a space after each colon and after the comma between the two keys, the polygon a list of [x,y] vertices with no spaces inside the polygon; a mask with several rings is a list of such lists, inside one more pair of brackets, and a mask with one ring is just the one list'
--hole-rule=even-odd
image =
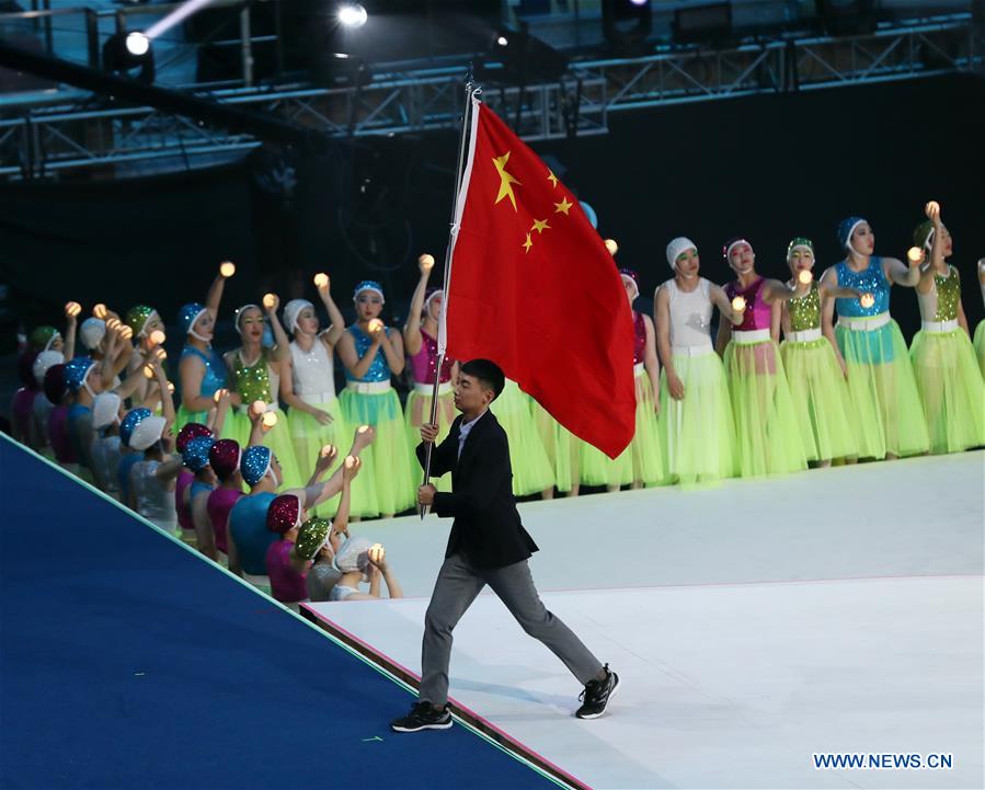
{"label": "lime skirt of magenta-topped woman between white-topped and green-topped women", "polygon": [[777,344],[733,340],[725,348],[724,365],[740,474],[752,478],[806,469],[800,423]]}

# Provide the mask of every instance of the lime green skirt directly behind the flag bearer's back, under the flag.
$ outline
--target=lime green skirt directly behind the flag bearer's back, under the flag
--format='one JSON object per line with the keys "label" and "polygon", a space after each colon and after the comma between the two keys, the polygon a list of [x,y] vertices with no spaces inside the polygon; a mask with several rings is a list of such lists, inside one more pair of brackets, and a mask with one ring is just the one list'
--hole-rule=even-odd
{"label": "lime green skirt directly behind the flag bearer's back, under the flag", "polygon": [[554,470],[534,422],[531,402],[516,381],[507,379],[503,392],[489,408],[509,439],[515,496],[537,494],[554,486]]}

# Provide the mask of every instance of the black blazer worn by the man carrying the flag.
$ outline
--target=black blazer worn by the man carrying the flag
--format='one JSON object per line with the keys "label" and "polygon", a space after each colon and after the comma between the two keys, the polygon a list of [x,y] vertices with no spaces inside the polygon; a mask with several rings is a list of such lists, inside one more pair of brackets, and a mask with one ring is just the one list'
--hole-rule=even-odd
{"label": "black blazer worn by the man carrying the flag", "polygon": [[[513,496],[513,470],[506,432],[491,411],[477,422],[458,458],[461,415],[451,423],[447,438],[434,448],[431,473],[451,472],[451,493],[438,492],[432,510],[440,517],[454,516],[445,557],[465,553],[476,568],[512,565],[537,551],[524,529]],[[426,445],[417,445],[417,460],[424,466]]]}

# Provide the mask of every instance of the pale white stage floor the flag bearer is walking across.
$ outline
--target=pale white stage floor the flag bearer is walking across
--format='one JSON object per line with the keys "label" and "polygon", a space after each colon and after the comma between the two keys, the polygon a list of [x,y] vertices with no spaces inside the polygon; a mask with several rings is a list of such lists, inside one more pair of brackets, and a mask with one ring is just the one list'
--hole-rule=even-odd
{"label": "pale white stage floor the flag bearer is walking across", "polygon": [[[483,594],[455,632],[451,696],[593,788],[985,787],[983,459],[526,505],[545,603],[620,691],[574,719],[576,680]],[[416,674],[447,527],[362,529],[425,597],[310,607]],[[951,767],[928,769],[937,755]]]}

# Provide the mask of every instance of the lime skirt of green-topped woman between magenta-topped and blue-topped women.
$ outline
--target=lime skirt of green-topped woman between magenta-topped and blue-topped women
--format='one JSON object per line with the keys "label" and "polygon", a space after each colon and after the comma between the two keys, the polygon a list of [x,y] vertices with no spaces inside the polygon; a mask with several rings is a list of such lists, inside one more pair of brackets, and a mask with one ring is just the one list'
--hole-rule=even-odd
{"label": "lime skirt of green-topped woman between magenta-topped and blue-topped women", "polygon": [[808,460],[857,458],[848,383],[832,344],[825,337],[805,343],[784,340],[780,356]]}

